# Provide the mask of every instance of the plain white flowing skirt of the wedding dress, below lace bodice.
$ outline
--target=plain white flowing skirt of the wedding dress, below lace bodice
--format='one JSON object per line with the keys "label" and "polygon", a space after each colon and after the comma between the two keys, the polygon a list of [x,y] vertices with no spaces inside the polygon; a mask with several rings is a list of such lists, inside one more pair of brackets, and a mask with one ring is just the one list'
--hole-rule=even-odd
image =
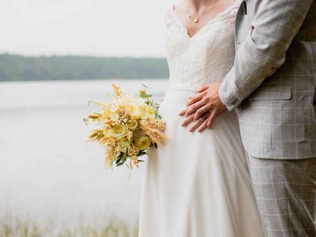
{"label": "plain white flowing skirt of the wedding dress, below lace bodice", "polygon": [[181,126],[196,90],[170,85],[160,104],[170,139],[146,161],[139,237],[264,237],[236,111],[202,133]]}

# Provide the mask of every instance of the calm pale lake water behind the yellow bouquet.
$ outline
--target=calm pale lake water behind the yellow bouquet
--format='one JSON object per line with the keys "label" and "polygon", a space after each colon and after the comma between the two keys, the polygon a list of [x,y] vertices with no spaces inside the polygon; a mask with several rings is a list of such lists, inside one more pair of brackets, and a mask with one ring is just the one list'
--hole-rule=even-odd
{"label": "calm pale lake water behind the yellow bouquet", "polygon": [[[163,97],[166,79],[0,82],[0,215],[14,213],[45,224],[72,226],[116,215],[138,220],[145,163],[109,170],[104,150],[85,143],[97,111],[91,99],[108,101],[112,82],[137,93],[142,83]],[[128,191],[127,191],[128,188]]]}

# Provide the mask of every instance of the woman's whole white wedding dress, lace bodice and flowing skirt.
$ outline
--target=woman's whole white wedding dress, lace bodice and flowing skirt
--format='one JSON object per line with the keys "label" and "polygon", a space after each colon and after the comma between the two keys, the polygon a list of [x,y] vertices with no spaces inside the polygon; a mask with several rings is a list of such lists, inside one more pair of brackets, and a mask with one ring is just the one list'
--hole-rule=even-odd
{"label": "woman's whole white wedding dress, lace bodice and flowing skirt", "polygon": [[264,237],[241,143],[237,112],[225,112],[212,129],[190,133],[178,113],[204,83],[221,81],[235,57],[239,3],[189,37],[167,11],[169,88],[159,108],[170,137],[152,149],[143,179],[139,237]]}

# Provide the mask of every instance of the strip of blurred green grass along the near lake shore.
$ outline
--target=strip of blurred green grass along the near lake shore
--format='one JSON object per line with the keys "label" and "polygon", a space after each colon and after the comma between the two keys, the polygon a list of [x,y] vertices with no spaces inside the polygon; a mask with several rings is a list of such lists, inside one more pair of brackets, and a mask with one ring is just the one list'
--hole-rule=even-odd
{"label": "strip of blurred green grass along the near lake shore", "polygon": [[57,229],[50,221],[40,227],[34,221],[22,220],[7,214],[0,219],[0,237],[137,237],[138,224],[129,226],[125,221],[111,217],[103,226],[85,224],[82,221],[77,228]]}

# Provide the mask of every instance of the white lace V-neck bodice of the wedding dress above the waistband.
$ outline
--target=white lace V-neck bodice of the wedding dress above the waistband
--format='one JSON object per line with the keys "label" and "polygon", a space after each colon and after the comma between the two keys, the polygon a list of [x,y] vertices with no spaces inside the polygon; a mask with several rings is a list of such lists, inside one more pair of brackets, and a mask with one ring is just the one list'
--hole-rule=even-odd
{"label": "white lace V-neck bodice of the wedding dress above the waistband", "polygon": [[202,85],[222,81],[234,65],[234,25],[239,2],[209,21],[193,37],[174,11],[165,14],[170,84]]}

